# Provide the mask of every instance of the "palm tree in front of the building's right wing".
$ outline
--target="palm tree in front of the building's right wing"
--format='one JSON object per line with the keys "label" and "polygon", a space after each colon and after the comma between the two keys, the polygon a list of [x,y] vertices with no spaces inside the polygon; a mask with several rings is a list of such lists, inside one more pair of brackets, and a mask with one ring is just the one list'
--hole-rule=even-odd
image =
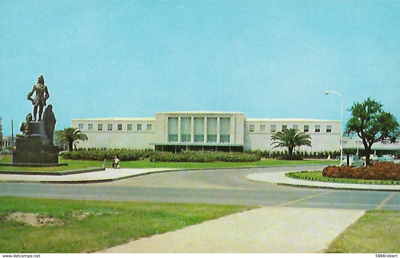
{"label": "palm tree in front of the building's right wing", "polygon": [[311,136],[300,132],[299,129],[286,129],[277,132],[271,136],[272,144],[276,144],[273,148],[288,147],[289,158],[292,158],[294,147],[306,145],[311,147]]}

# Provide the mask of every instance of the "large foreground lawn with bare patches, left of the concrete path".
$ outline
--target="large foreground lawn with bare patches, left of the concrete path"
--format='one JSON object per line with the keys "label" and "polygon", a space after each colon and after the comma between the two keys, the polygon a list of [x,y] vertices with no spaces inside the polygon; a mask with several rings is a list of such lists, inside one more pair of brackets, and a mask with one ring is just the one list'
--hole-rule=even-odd
{"label": "large foreground lawn with bare patches, left of the concrete path", "polygon": [[[0,253],[94,252],[256,206],[0,198]],[[38,226],[8,219],[36,214]]]}

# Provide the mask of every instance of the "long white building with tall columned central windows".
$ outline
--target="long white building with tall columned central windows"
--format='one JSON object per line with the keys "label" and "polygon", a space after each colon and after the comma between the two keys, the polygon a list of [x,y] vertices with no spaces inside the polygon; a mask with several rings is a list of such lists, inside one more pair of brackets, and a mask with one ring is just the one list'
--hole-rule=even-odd
{"label": "long white building with tall columned central windows", "polygon": [[[166,112],[155,118],[73,119],[72,127],[88,136],[78,147],[155,149],[160,151],[246,151],[272,149],[271,135],[297,128],[311,136],[312,147],[300,151],[340,150],[340,121],[317,119],[248,119],[238,112]],[[344,138],[343,147],[362,148],[358,137]],[[381,146],[382,145],[382,146]],[[400,149],[399,143],[375,143],[373,149]]]}

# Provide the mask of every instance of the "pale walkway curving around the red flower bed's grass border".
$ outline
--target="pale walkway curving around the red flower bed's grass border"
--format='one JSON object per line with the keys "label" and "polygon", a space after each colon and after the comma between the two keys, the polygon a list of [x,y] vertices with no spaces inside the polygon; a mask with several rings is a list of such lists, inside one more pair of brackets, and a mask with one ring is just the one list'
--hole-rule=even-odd
{"label": "pale walkway curving around the red flower bed's grass border", "polygon": [[301,187],[321,187],[331,189],[354,189],[354,190],[374,190],[374,191],[400,191],[400,185],[367,185],[352,183],[328,183],[318,181],[300,180],[286,177],[288,172],[269,172],[254,173],[247,175],[247,179],[262,181],[267,183],[277,183],[281,185],[292,185]]}

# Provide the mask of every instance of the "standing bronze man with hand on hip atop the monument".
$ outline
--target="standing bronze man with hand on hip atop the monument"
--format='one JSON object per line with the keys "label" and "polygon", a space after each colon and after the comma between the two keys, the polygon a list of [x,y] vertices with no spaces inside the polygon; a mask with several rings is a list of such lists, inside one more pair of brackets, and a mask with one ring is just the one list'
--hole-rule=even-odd
{"label": "standing bronze man with hand on hip atop the monument", "polygon": [[[33,93],[36,92],[35,98],[32,99]],[[36,114],[38,113],[39,107],[39,116],[38,121],[42,120],[43,107],[46,106],[46,100],[50,97],[50,94],[47,90],[47,86],[44,85],[43,75],[38,77],[38,83],[33,85],[32,91],[28,93],[26,97],[28,100],[32,102],[33,105],[33,121],[36,121]]]}

